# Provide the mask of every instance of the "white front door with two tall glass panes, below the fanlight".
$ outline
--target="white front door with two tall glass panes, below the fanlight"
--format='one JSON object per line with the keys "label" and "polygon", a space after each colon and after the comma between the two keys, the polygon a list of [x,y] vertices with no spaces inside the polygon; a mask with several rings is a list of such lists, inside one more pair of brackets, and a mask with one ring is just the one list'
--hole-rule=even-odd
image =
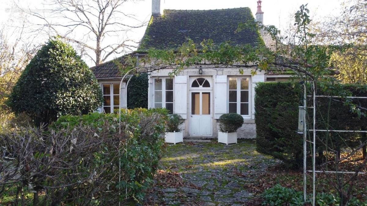
{"label": "white front door with two tall glass panes, below the fanlight", "polygon": [[190,135],[212,135],[212,93],[190,91]]}

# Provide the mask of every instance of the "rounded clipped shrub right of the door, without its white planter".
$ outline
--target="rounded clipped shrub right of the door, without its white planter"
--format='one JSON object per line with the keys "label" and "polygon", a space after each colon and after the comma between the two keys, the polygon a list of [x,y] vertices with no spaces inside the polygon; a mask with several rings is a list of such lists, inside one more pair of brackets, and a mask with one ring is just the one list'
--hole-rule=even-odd
{"label": "rounded clipped shrub right of the door, without its white planter", "polygon": [[243,124],[243,117],[237,113],[222,114],[218,122],[221,132],[236,132]]}

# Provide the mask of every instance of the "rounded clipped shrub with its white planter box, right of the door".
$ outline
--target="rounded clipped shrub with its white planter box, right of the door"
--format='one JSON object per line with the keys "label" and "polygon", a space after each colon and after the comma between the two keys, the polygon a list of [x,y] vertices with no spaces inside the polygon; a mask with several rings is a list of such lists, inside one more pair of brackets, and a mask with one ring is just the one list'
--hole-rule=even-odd
{"label": "rounded clipped shrub with its white planter box, right of the door", "polygon": [[223,114],[218,119],[218,142],[231,144],[237,143],[237,129],[243,124],[243,117],[236,113]]}

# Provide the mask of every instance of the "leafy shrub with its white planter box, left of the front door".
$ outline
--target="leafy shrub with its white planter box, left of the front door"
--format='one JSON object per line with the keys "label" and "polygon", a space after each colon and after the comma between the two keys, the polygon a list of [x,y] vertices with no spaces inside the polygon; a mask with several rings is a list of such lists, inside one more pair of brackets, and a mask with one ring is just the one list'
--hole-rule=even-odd
{"label": "leafy shrub with its white planter box, left of the front door", "polygon": [[178,114],[171,114],[167,121],[167,132],[164,135],[167,143],[179,143],[183,141],[183,132],[180,128],[185,120]]}

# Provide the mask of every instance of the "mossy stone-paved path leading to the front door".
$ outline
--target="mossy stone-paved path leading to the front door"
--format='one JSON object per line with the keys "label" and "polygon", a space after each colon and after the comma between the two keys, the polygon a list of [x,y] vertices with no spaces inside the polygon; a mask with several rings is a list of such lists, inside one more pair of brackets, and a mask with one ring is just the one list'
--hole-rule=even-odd
{"label": "mossy stone-paved path leading to the front door", "polygon": [[254,140],[168,145],[144,205],[243,205],[253,197],[243,186],[256,181],[248,174],[277,163],[255,148]]}

